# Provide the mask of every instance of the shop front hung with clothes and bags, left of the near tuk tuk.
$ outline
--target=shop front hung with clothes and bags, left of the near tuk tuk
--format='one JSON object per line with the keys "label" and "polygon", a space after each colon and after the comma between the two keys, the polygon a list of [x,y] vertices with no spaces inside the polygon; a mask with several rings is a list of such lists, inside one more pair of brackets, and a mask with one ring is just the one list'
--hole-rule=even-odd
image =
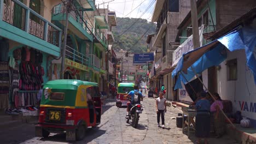
{"label": "shop front hung with clothes and bags, left of the near tuk tuk", "polygon": [[50,55],[4,38],[0,47],[0,109],[9,115],[37,116]]}

